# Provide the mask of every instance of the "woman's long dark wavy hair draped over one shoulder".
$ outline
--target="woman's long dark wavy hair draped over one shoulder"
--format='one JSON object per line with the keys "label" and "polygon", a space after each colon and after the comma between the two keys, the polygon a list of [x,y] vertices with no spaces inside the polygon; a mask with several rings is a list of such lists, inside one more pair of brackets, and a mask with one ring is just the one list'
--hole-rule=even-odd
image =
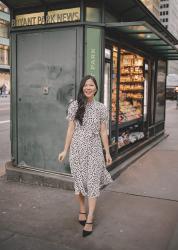
{"label": "woman's long dark wavy hair draped over one shoulder", "polygon": [[[98,84],[96,79],[91,76],[91,75],[86,75],[85,77],[83,77],[83,79],[80,82],[80,87],[79,87],[79,91],[78,91],[78,96],[77,96],[77,102],[78,102],[78,109],[77,112],[75,114],[75,119],[79,121],[80,125],[83,124],[83,117],[84,117],[84,113],[85,113],[85,107],[87,104],[87,97],[84,95],[83,93],[83,87],[86,83],[87,80],[91,79],[95,86],[96,86],[96,93],[98,91]],[[95,93],[95,95],[96,95]]]}

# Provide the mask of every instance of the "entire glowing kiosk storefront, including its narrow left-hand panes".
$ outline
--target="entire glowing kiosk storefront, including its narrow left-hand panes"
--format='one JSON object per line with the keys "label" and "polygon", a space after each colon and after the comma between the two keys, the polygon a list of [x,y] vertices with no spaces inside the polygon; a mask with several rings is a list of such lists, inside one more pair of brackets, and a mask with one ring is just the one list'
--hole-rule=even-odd
{"label": "entire glowing kiosk storefront, including its narrow left-hand panes", "polygon": [[[105,61],[107,60],[106,52],[105,50]],[[147,119],[148,102],[148,64],[140,55],[125,49],[119,50],[117,46],[112,46],[111,54],[110,137],[111,143],[117,141],[120,149],[144,138],[144,121]]]}

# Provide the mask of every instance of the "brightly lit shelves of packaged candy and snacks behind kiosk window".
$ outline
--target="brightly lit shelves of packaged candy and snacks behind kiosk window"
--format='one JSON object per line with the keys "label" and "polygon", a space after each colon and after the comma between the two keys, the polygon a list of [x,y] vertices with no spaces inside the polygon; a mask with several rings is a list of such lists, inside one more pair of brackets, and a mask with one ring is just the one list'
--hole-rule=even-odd
{"label": "brightly lit shelves of packaged candy and snacks behind kiosk window", "polygon": [[143,116],[143,57],[121,50],[119,124]]}

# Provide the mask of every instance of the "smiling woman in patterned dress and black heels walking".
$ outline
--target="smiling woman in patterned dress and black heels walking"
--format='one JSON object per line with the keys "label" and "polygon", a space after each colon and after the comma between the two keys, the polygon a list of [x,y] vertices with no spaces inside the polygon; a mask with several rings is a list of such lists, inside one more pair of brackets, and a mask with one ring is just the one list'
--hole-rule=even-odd
{"label": "smiling woman in patterned dress and black heels walking", "polygon": [[[70,147],[69,161],[74,177],[74,189],[79,201],[79,222],[84,226],[83,236],[92,233],[96,199],[100,188],[112,182],[106,170],[101,140],[106,152],[106,163],[111,164],[107,136],[107,109],[103,103],[94,100],[98,91],[96,79],[85,76],[80,84],[77,100],[68,108],[69,120],[65,146],[59,154],[63,161]],[[88,215],[85,208],[88,197]]]}

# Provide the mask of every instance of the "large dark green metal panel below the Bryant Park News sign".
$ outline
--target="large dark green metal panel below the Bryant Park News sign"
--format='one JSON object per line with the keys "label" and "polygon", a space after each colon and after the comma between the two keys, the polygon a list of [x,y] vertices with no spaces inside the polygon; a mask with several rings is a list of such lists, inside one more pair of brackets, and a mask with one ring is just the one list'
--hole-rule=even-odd
{"label": "large dark green metal panel below the Bryant Park News sign", "polygon": [[76,28],[17,35],[18,165],[68,172],[59,164],[75,98]]}

